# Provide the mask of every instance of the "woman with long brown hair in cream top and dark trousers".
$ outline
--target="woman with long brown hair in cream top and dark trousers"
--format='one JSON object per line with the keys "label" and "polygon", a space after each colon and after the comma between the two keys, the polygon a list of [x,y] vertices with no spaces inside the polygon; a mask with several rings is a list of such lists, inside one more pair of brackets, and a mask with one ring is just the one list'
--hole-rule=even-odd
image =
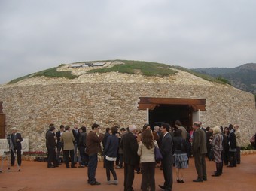
{"label": "woman with long brown hair in cream top and dark trousers", "polygon": [[158,147],[157,141],[154,141],[151,129],[145,129],[142,133],[142,140],[139,142],[138,155],[142,164],[142,191],[151,191],[156,189],[154,180],[155,157],[154,147]]}

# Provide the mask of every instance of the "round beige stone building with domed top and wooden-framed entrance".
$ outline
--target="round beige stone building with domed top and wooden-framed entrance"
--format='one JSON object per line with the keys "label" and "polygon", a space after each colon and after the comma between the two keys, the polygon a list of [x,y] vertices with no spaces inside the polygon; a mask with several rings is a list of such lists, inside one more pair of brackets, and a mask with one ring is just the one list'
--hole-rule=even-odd
{"label": "round beige stone building with domed top and wooden-framed entrance", "polygon": [[[101,62],[97,68],[118,62]],[[0,86],[6,134],[16,126],[29,138],[29,150],[45,151],[45,132],[50,123],[102,128],[126,127],[144,123],[151,127],[175,120],[188,128],[200,120],[203,126],[238,123],[242,143],[256,132],[254,95],[227,84],[211,82],[185,71],[166,77],[118,72],[87,73],[92,67],[63,65],[59,71],[72,71],[78,78],[32,77]]]}

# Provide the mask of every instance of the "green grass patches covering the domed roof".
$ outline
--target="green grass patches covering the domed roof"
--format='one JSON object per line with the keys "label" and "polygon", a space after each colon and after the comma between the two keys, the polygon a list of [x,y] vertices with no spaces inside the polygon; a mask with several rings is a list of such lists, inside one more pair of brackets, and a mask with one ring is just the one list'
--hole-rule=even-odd
{"label": "green grass patches covering the domed roof", "polygon": [[[186,71],[190,74],[194,74],[197,77],[201,77],[204,80],[209,81],[215,81],[218,83],[228,83],[227,80],[224,79],[217,79],[214,77],[210,77],[206,74],[200,74],[195,71],[191,71],[187,68],[183,68],[180,66],[171,66],[166,64],[160,64],[157,62],[144,62],[144,61],[133,61],[133,60],[106,60],[106,61],[93,61],[93,62],[114,62],[119,61],[123,62],[123,64],[117,64],[114,65],[111,68],[98,68],[98,69],[92,69],[90,71],[87,71],[87,73],[106,73],[106,72],[120,72],[120,73],[126,73],[126,74],[142,74],[145,76],[168,76],[175,74],[177,71],[173,70],[172,68]],[[80,63],[80,62],[77,62]],[[87,62],[81,62],[81,63],[87,63]],[[78,75],[72,74],[72,71],[57,71],[57,68],[62,67],[62,65],[59,65],[58,67],[49,68],[44,71],[38,71],[33,74],[29,74],[23,77],[19,77],[17,79],[11,80],[9,84],[11,83],[17,83],[20,80],[24,80],[31,77],[66,77],[67,79],[75,79],[79,77]]]}

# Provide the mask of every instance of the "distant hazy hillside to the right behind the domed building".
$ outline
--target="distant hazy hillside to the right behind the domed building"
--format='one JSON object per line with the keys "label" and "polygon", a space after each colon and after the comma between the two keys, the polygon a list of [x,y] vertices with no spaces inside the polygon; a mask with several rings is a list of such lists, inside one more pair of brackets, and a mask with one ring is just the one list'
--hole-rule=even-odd
{"label": "distant hazy hillside to the right behind the domed building", "polygon": [[212,77],[227,79],[232,86],[256,94],[256,64],[249,63],[236,68],[193,68],[193,71]]}

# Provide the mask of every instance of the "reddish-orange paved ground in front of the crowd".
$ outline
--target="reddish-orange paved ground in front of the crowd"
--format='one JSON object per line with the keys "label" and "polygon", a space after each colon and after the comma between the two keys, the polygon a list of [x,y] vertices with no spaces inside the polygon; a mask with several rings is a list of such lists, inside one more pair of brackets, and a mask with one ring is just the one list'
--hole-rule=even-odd
{"label": "reddish-orange paved ground in front of the crowd", "polygon": [[[5,161],[6,162],[6,161]],[[10,172],[5,172],[6,163],[4,162],[3,172],[0,173],[0,191],[34,191],[34,190],[123,190],[123,169],[118,169],[117,177],[119,185],[107,185],[105,169],[102,162],[96,171],[96,179],[102,183],[100,186],[90,186],[87,184],[87,168],[69,168],[65,165],[59,168],[47,168],[44,162],[23,162],[21,171],[17,167],[12,167]],[[207,162],[208,181],[194,183],[196,170],[194,159],[190,159],[190,166],[185,170],[185,183],[173,183],[174,191],[206,191],[206,190],[225,190],[225,191],[252,191],[256,186],[256,154],[242,156],[242,163],[236,168],[224,166],[224,173],[221,177],[212,177],[215,171],[215,163]],[[173,168],[175,179],[175,168]],[[156,169],[156,185],[163,184],[163,171]],[[142,174],[135,174],[133,189],[140,190]],[[162,190],[158,188],[156,190]]]}

